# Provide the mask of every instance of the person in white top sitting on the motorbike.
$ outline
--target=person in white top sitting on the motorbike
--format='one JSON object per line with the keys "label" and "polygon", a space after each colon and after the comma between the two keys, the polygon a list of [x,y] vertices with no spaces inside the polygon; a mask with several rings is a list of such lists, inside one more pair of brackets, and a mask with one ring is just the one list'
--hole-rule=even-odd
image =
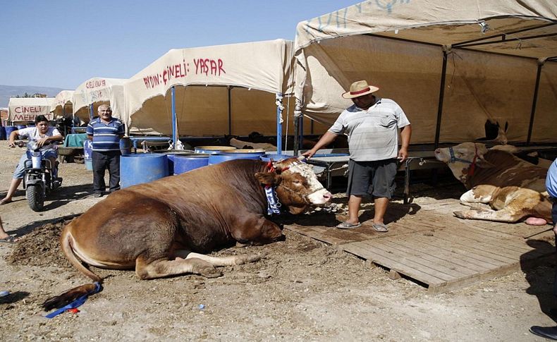
{"label": "person in white top sitting on the motorbike", "polygon": [[[60,134],[59,130],[55,127],[50,127],[49,121],[44,115],[37,115],[35,117],[35,127],[27,127],[20,130],[14,130],[10,137],[8,138],[8,146],[16,147],[16,137],[20,136],[27,137],[29,140],[37,141],[37,145],[41,147],[40,151],[43,158],[48,158],[51,161],[51,165],[56,165],[56,158],[58,157],[58,152],[53,144],[55,141],[63,140],[63,136]],[[16,171],[13,172],[13,178],[10,183],[10,188],[4,199],[0,200],[0,205],[11,202],[11,197],[25,176],[25,161],[30,160],[30,154],[25,152],[21,159],[19,160],[18,166],[16,166]]]}

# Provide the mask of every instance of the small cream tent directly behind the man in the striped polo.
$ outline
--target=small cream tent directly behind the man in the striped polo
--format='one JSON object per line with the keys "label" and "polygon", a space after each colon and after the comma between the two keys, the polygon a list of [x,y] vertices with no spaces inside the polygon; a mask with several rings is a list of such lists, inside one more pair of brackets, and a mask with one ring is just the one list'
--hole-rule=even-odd
{"label": "small cream tent directly behind the man in the striped polo", "polygon": [[73,92],[73,114],[82,121],[89,122],[90,106],[93,116],[102,104],[110,104],[112,116],[120,118],[127,126],[126,104],[124,104],[123,84],[120,78],[90,78]]}

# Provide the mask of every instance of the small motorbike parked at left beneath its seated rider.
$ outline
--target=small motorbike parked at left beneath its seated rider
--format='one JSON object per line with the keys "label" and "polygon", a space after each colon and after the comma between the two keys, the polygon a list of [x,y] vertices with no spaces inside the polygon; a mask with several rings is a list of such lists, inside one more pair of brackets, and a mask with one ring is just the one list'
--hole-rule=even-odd
{"label": "small motorbike parked at left beneath its seated rider", "polygon": [[37,141],[30,140],[25,142],[16,142],[19,147],[27,146],[27,157],[30,160],[25,161],[25,176],[23,177],[23,188],[27,196],[29,207],[34,212],[40,212],[44,207],[44,199],[52,190],[62,185],[62,178],[58,177],[56,165],[48,158],[43,158]]}

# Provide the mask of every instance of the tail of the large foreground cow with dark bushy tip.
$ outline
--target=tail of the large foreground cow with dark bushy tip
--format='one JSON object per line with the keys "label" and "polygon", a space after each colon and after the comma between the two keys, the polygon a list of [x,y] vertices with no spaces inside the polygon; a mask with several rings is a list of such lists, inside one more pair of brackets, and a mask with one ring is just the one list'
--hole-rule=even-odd
{"label": "tail of the large foreground cow with dark bushy tip", "polygon": [[[97,276],[97,274],[94,274],[92,271],[90,271],[90,269],[87,269],[87,267],[85,267],[80,262],[78,257],[75,256],[75,253],[71,248],[72,241],[73,238],[71,236],[70,229],[68,226],[66,226],[66,228],[62,232],[62,236],[60,237],[60,245],[61,245],[62,252],[64,253],[64,255],[66,255],[68,260],[70,260],[71,264],[73,264],[73,266],[76,269],[81,271],[82,274],[85,274],[86,276],[90,277],[91,279],[93,279],[93,281],[96,281],[98,284],[102,283],[102,278],[100,276]],[[81,285],[72,288],[71,290],[68,290],[64,293],[61,293],[60,295],[55,295],[54,297],[48,298],[47,300],[44,301],[44,303],[42,303],[42,307],[44,308],[45,311],[49,311],[55,307],[60,308],[66,306],[69,303],[72,303],[74,300],[84,295],[87,295],[89,293],[94,293],[95,288],[97,288],[97,283],[86,283],[85,285]]]}

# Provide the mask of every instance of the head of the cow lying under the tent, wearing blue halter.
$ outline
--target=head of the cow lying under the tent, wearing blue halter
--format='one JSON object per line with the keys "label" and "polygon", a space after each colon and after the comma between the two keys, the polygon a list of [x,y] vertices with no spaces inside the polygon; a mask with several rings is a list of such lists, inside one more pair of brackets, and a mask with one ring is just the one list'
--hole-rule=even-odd
{"label": "head of the cow lying under the tent, wearing blue halter", "polygon": [[468,178],[473,176],[476,168],[494,167],[484,159],[486,145],[479,142],[463,142],[462,144],[438,148],[435,150],[435,157],[439,161],[445,162],[453,172],[453,175],[465,185]]}

